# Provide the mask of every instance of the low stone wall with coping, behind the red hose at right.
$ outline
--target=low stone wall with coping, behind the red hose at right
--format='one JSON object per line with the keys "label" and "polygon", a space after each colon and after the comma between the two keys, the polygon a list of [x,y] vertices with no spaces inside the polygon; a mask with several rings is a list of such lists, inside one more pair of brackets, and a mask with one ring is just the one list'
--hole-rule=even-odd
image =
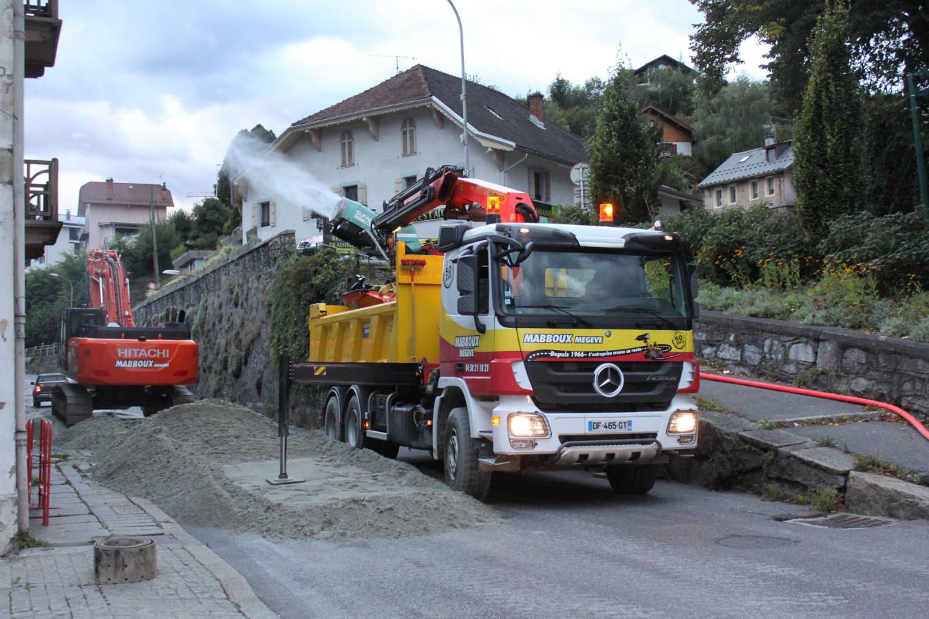
{"label": "low stone wall with coping, behind the red hose at right", "polygon": [[833,327],[701,312],[698,357],[733,371],[929,415],[929,344]]}

